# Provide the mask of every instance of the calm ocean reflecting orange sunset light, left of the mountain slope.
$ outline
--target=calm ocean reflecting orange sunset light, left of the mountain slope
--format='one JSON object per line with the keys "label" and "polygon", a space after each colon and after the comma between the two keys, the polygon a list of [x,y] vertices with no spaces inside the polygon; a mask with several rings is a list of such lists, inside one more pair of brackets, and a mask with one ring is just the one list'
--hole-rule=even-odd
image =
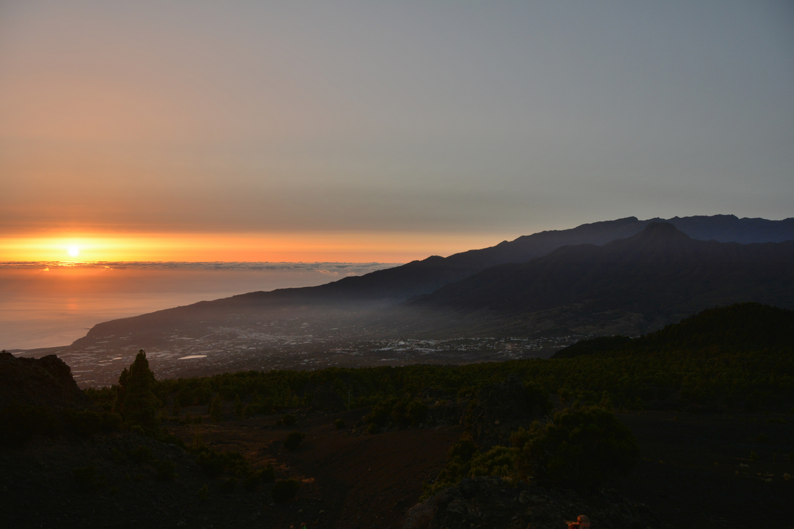
{"label": "calm ocean reflecting orange sunset light, left of the mountain slope", "polygon": [[0,263],[0,349],[68,345],[102,321],[401,263]]}

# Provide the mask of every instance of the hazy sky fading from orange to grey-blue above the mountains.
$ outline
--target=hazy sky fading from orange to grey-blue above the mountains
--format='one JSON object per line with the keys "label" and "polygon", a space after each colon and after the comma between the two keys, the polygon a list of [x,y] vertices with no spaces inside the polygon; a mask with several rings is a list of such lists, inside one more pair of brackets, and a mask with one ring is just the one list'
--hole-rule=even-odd
{"label": "hazy sky fading from orange to grey-blue above the mountains", "polygon": [[5,0],[0,200],[0,260],[792,217],[794,3]]}

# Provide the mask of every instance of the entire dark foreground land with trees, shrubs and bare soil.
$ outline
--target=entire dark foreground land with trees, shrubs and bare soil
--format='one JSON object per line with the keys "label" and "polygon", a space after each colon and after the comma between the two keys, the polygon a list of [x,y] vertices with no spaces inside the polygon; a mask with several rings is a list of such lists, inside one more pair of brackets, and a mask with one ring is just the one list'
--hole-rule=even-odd
{"label": "entire dark foreground land with trees, shrubs and bare soil", "polygon": [[3,352],[2,527],[792,527],[792,343],[747,303],[466,366],[156,380],[140,351],[81,391]]}

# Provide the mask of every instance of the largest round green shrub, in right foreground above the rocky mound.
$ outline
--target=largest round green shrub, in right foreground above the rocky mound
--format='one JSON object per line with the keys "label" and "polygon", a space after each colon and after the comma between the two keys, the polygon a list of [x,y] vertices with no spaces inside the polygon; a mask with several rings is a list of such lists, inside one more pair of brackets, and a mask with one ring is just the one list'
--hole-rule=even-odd
{"label": "largest round green shrub, in right foreground above the rocky mound", "polygon": [[600,406],[574,406],[552,422],[532,424],[511,436],[520,451],[516,467],[543,481],[592,487],[611,473],[628,472],[639,459],[637,439],[615,414]]}

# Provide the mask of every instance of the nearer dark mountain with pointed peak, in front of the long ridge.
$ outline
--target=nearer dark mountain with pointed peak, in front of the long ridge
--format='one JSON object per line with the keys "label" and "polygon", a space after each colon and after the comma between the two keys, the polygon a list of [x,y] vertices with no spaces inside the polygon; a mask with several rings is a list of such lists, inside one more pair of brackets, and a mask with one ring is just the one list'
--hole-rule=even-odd
{"label": "nearer dark mountain with pointed peak, in front of the long ridge", "polygon": [[[794,306],[794,241],[693,240],[673,224],[649,223],[637,235],[602,247],[561,247],[441,287],[403,305],[403,313],[421,314],[421,322],[405,322],[403,328],[449,327],[450,314],[461,326],[476,317],[498,328],[516,315],[561,307],[602,314],[602,320],[634,315],[658,326],[660,320],[738,301]],[[557,323],[569,326],[570,316]]]}

